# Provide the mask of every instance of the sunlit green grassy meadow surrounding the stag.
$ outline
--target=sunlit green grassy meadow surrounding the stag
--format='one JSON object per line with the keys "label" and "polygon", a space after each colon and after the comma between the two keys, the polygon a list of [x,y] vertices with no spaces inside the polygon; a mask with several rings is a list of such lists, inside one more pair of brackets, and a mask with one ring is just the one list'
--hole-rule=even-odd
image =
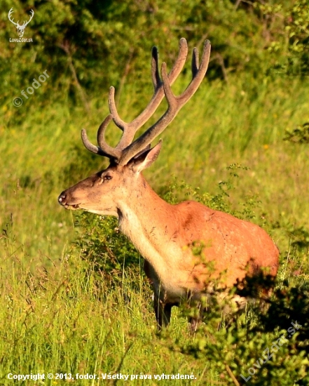
{"label": "sunlit green grassy meadow surrounding the stag", "polygon": [[[175,93],[186,81],[180,79]],[[205,79],[161,135],[160,157],[145,172],[163,197],[170,189],[176,201],[204,194],[210,204],[224,203],[228,211],[263,226],[280,248],[277,286],[287,291],[290,286],[308,289],[309,280],[309,144],[284,141],[286,131],[309,121],[308,86],[308,77],[284,74],[262,82],[246,74],[232,74],[228,83]],[[81,217],[57,204],[63,189],[107,166],[106,160],[83,149],[80,139],[81,128],[86,128],[95,142],[97,127],[108,113],[107,91],[94,95],[89,109],[52,95],[46,95],[42,106],[41,95],[35,93],[21,107],[14,107],[11,100],[0,107],[0,385],[12,384],[8,373],[193,373],[195,380],[134,382],[245,385],[240,373],[245,374],[247,363],[232,368],[235,381],[226,368],[217,366],[215,355],[185,349],[198,338],[189,335],[181,310],[173,310],[167,332],[156,333],[142,258],[124,239],[125,248],[116,241],[120,235],[113,231],[109,239],[116,263],[108,274],[105,263],[97,269],[97,260],[85,257],[82,244],[89,249],[97,243],[99,248],[104,229],[114,229],[114,222],[104,225],[108,220]],[[121,117],[132,120],[150,97],[150,86],[141,98],[133,79],[127,79],[118,95]],[[109,128],[107,139],[115,144],[118,135],[117,128]],[[174,184],[177,187],[171,187]],[[98,232],[95,241],[93,232]],[[109,254],[104,253],[106,258]],[[250,312],[242,318],[244,323],[255,320]],[[276,334],[268,333],[263,347]],[[205,336],[212,341],[211,335]],[[226,357],[241,357],[233,345],[224,350]],[[287,360],[290,354],[284,355]],[[259,374],[254,375],[254,384],[266,385],[259,383]],[[280,383],[280,378],[271,378],[269,384],[293,385],[293,379]],[[18,382],[67,383],[125,381]]]}

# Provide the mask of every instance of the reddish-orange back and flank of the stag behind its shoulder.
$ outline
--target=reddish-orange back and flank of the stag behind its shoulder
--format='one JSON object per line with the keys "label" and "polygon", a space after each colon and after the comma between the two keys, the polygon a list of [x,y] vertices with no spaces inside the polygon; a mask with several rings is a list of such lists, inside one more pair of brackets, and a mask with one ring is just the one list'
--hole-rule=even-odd
{"label": "reddish-orange back and flank of the stag behind its shoulder", "polygon": [[[187,262],[187,268],[191,266],[193,269],[191,277],[195,281],[198,277],[207,280],[207,277],[217,277],[220,273],[224,284],[233,286],[246,274],[261,271],[272,276],[277,274],[279,251],[258,225],[214,211],[195,201],[185,201],[175,209],[179,234],[183,238],[181,243],[198,253],[195,258],[184,260],[184,265]],[[201,253],[199,246],[202,246]],[[204,272],[205,265],[210,267],[207,273]]]}

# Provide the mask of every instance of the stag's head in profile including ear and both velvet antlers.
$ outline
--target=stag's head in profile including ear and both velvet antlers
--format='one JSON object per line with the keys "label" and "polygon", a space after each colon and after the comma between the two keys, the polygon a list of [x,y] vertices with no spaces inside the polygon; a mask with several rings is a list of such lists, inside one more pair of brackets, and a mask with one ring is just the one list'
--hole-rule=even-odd
{"label": "stag's head in profile including ear and both velvet antlers", "polygon": [[[192,79],[186,90],[179,96],[172,93],[171,85],[177,79],[186,62],[188,46],[186,39],[179,41],[179,54],[174,67],[167,74],[167,67],[163,62],[161,77],[158,69],[158,50],[152,49],[151,75],[154,93],[151,101],[130,123],[123,121],[116,109],[115,89],[109,91],[109,112],[97,131],[97,145],[92,145],[88,140],[85,130],[81,132],[83,145],[92,153],[109,159],[109,166],[103,171],[78,182],[78,184],[64,190],[58,198],[59,203],[67,209],[81,208],[101,215],[118,215],[118,203],[130,200],[130,197],[139,197],[139,189],[143,189],[144,180],[140,173],[156,160],[161,148],[161,141],[151,148],[151,142],[163,132],[174,119],[179,109],[191,98],[200,86],[207,71],[210,58],[210,42],[205,41],[200,65],[198,62],[198,50],[193,49],[192,55]],[[167,110],[149,127],[139,138],[134,140],[135,133],[156,111],[158,105],[167,99]],[[107,144],[104,133],[110,121],[123,132],[121,140],[116,147]]]}

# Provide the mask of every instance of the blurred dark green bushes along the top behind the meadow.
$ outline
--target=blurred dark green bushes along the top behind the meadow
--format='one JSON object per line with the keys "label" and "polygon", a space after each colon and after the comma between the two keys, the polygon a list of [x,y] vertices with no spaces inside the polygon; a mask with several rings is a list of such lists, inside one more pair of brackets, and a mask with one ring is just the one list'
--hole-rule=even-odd
{"label": "blurred dark green bushes along the top behind the meadow", "polygon": [[[49,100],[59,100],[61,95],[62,100],[85,105],[89,112],[89,93],[100,95],[111,84],[121,93],[130,74],[139,79],[137,93],[142,93],[149,85],[151,46],[164,47],[165,60],[170,63],[176,58],[175,48],[181,36],[198,46],[206,38],[212,42],[208,79],[228,81],[231,72],[248,70],[256,78],[264,76],[269,67],[266,47],[276,53],[277,62],[284,62],[282,35],[288,36],[289,50],[301,62],[301,71],[307,71],[306,3],[294,0],[289,8],[282,8],[231,0],[4,0],[0,15],[4,42],[0,79],[4,97],[11,102],[12,90],[22,90],[47,69],[50,79],[44,91],[36,91],[32,101],[35,98],[48,103],[44,97],[48,90]],[[27,19],[29,11],[34,10],[34,18],[25,30],[25,37],[32,37],[32,43],[10,42],[11,37],[17,37],[15,27],[8,21],[12,7],[16,20]],[[277,13],[283,15],[283,23],[269,21],[280,20]],[[265,39],[266,36],[271,38]],[[15,119],[20,114],[22,110],[16,112]]]}

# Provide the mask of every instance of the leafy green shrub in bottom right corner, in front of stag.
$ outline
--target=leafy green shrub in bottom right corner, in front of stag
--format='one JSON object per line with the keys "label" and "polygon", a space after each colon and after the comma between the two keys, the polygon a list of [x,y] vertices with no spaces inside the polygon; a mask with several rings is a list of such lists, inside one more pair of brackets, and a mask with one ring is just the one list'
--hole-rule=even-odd
{"label": "leafy green shrub in bottom right corner, in front of stag", "polygon": [[229,384],[308,385],[308,288],[277,289],[264,312],[258,304],[225,324],[222,304],[212,300],[193,342],[174,350],[205,357]]}

